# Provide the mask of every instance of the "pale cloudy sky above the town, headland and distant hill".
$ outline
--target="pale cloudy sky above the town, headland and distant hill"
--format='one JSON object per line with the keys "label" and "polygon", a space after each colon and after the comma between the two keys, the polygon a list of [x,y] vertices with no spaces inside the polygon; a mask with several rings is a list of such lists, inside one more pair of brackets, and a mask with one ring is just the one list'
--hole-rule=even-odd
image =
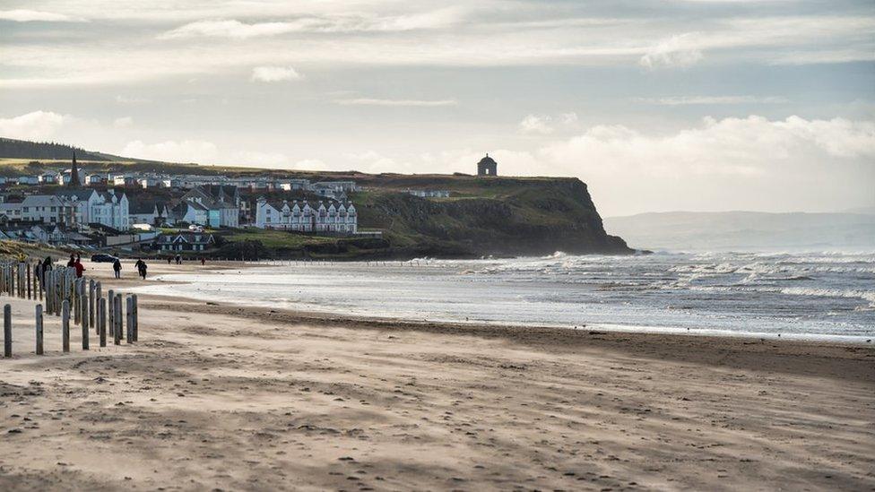
{"label": "pale cloudy sky above the town, headland and distant hill", "polygon": [[875,206],[871,0],[0,0],[0,136],[579,177],[602,215]]}

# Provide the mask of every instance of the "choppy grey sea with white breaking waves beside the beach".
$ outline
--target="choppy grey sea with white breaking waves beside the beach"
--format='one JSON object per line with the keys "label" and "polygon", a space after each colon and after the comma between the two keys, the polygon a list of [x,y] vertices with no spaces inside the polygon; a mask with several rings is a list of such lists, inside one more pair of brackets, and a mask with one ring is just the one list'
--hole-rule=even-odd
{"label": "choppy grey sea with white breaking waves beside the beach", "polygon": [[416,321],[875,341],[875,251],[264,262],[159,280],[183,283],[139,291]]}

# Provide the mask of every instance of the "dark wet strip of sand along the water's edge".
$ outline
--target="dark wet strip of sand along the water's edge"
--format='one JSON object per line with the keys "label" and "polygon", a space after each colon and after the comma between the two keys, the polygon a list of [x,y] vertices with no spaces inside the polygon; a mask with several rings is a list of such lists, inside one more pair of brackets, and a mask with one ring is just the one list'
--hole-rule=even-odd
{"label": "dark wet strip of sand along the water's edge", "polygon": [[[574,350],[611,350],[645,358],[673,359],[684,363],[726,366],[744,369],[758,368],[758,356],[767,355],[773,370],[801,374],[828,375],[838,379],[862,382],[875,381],[875,347],[841,341],[795,341],[750,338],[743,336],[713,336],[709,334],[608,332],[598,329],[570,330],[550,326],[518,326],[504,324],[454,324],[414,322],[391,318],[310,313],[291,309],[221,304],[199,299],[169,298],[138,294],[143,310],[203,315],[226,315],[246,320],[311,327],[343,328],[376,332],[423,332],[436,335],[498,339],[524,344],[541,350],[568,352]],[[804,360],[802,360],[804,359]],[[871,361],[870,370],[856,367],[861,360]],[[840,366],[828,374],[818,367],[819,361]]]}

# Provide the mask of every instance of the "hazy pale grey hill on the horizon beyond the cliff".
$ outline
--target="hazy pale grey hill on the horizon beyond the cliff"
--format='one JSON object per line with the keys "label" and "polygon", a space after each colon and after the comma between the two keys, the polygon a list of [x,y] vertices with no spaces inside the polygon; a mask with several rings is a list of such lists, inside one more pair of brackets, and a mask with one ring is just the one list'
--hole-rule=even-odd
{"label": "hazy pale grey hill on the horizon beyond the cliff", "polygon": [[671,211],[607,217],[604,228],[647,249],[875,250],[875,215],[862,213]]}

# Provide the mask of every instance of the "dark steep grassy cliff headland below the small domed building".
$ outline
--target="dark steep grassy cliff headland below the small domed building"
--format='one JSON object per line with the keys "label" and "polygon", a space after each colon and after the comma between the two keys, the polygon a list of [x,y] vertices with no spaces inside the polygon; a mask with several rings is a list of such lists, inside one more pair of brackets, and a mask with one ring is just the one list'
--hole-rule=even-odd
{"label": "dark steep grassy cliff headland below the small domed building", "polygon": [[586,185],[578,179],[474,179],[483,182],[483,189],[470,198],[362,194],[354,198],[360,227],[383,229],[396,251],[421,255],[633,252],[621,238],[605,233]]}

